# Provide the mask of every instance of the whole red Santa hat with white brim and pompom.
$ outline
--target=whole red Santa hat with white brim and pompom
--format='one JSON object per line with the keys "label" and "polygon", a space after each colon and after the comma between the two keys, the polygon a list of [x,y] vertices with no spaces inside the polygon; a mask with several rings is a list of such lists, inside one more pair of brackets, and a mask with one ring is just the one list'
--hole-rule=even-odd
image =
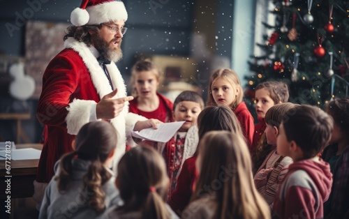
{"label": "whole red Santa hat with white brim and pompom", "polygon": [[74,26],[102,24],[114,20],[127,20],[127,11],[122,1],[82,0],[80,8],[75,8],[70,14],[70,22]]}

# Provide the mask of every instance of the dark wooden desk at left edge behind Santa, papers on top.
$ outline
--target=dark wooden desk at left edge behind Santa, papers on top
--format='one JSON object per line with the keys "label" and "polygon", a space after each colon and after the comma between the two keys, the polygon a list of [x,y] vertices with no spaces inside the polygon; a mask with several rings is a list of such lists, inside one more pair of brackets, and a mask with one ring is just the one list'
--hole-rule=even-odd
{"label": "dark wooden desk at left edge behind Santa, papers on top", "polygon": [[[43,144],[16,144],[16,149],[43,149]],[[13,198],[32,197],[34,194],[33,181],[36,179],[39,160],[11,160],[10,176],[6,174],[5,160],[0,160],[0,199],[6,198],[6,179],[10,179],[10,196]]]}

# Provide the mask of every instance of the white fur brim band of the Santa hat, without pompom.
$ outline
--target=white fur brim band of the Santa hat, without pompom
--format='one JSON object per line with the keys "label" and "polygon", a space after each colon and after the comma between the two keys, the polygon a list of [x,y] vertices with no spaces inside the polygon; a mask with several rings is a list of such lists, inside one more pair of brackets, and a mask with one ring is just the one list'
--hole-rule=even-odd
{"label": "white fur brim band of the Santa hat, without pompom", "polygon": [[86,8],[89,13],[87,24],[102,24],[115,20],[127,20],[127,11],[121,1],[109,1]]}

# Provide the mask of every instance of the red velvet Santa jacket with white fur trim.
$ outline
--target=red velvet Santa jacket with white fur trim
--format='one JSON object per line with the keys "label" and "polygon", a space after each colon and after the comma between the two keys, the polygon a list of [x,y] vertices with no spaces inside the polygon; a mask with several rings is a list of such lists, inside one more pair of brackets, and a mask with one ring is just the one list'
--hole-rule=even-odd
{"label": "red velvet Santa jacket with white fur trim", "polygon": [[[48,183],[54,175],[54,163],[72,151],[71,142],[80,128],[89,122],[91,108],[112,92],[105,73],[85,43],[68,38],[65,49],[50,61],[43,75],[43,90],[36,116],[45,125],[45,142],[38,165],[36,181]],[[124,80],[115,63],[107,65],[114,88],[114,98],[126,96]],[[128,107],[110,123],[116,128],[118,141],[115,162],[125,152],[126,135],[131,136],[142,116],[128,113]]]}

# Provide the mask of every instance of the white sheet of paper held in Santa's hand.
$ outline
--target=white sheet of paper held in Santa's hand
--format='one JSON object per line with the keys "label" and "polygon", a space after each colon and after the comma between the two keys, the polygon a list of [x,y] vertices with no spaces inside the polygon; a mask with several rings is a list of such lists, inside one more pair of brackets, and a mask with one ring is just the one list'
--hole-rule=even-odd
{"label": "white sheet of paper held in Santa's hand", "polygon": [[174,121],[172,123],[161,123],[158,124],[158,129],[144,128],[139,132],[133,131],[132,136],[153,142],[168,142],[185,122],[186,121]]}

